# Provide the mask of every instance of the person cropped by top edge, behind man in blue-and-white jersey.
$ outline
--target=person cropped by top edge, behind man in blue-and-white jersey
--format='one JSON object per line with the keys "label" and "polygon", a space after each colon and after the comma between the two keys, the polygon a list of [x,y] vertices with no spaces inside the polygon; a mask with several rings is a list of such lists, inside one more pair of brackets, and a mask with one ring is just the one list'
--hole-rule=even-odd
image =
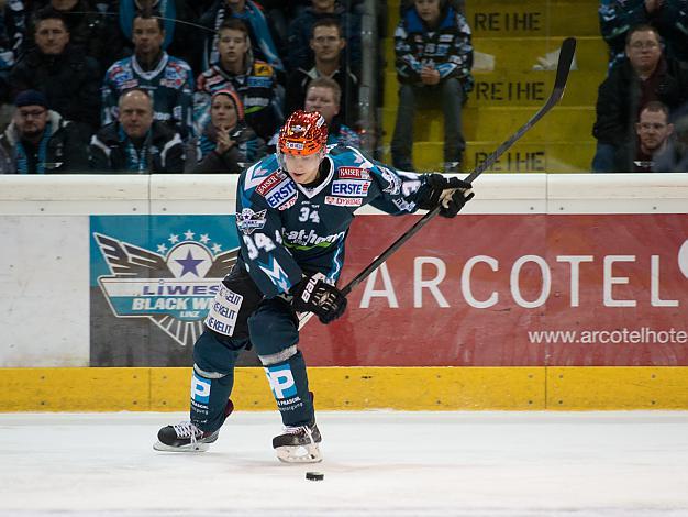
{"label": "person cropped by top edge, behind man in blue-and-white jersey", "polygon": [[[64,1],[64,0],[60,0]],[[199,0],[192,2],[201,3]],[[187,0],[119,0],[120,29],[124,37],[133,41],[134,18],[140,12],[159,13],[165,30],[163,50],[191,66],[195,73],[202,70],[201,40],[199,29],[186,21],[197,20]],[[114,61],[114,59],[113,59]]]}

